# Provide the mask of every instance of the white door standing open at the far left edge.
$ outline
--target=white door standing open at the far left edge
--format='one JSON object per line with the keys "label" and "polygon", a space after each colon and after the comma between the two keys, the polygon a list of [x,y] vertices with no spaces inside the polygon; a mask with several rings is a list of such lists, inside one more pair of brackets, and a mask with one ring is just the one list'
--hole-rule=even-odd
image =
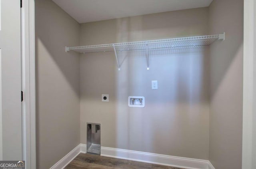
{"label": "white door standing open at the far left edge", "polygon": [[0,160],[22,159],[20,4],[0,2]]}

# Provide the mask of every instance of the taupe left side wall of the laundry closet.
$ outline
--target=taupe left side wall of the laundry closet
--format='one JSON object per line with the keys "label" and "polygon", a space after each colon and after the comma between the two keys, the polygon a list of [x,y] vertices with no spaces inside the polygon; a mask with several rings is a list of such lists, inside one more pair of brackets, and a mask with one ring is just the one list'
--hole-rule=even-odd
{"label": "taupe left side wall of the laundry closet", "polygon": [[79,24],[51,0],[36,0],[36,163],[52,167],[80,143]]}

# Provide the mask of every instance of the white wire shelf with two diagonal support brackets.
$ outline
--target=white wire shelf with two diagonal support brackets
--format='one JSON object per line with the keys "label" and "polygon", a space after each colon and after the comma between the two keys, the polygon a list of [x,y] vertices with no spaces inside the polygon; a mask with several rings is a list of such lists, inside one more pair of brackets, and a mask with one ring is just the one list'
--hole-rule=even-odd
{"label": "white wire shelf with two diagonal support brackets", "polygon": [[75,51],[81,54],[92,53],[92,52],[113,52],[116,56],[116,62],[118,70],[120,70],[120,64],[118,61],[118,51],[129,51],[129,50],[146,50],[147,70],[149,70],[149,50],[160,49],[160,48],[175,48],[185,46],[202,46],[210,45],[215,40],[225,40],[225,32],[216,35],[205,35],[205,36],[192,36],[184,38],[172,38],[172,39],[161,39],[161,40],[148,40],[139,42],[125,42],[116,44],[102,44],[102,45],[90,45],[90,46],[74,46],[65,47],[65,51]]}

